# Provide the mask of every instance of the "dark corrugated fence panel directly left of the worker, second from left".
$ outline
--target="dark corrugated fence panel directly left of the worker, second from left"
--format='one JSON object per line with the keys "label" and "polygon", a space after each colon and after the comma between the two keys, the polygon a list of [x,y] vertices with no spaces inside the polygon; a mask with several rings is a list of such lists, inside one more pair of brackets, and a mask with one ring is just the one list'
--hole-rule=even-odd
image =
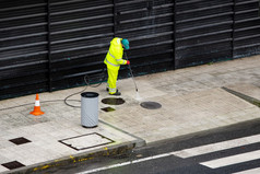
{"label": "dark corrugated fence panel directly left of the worker, second from left", "polygon": [[103,70],[114,37],[111,0],[50,0],[49,91],[83,84]]}

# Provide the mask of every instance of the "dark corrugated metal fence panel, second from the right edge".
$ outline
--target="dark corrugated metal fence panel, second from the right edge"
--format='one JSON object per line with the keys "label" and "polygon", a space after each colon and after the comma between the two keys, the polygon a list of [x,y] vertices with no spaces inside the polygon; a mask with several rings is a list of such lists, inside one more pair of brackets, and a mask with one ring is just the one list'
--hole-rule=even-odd
{"label": "dark corrugated metal fence panel, second from the right edge", "polygon": [[233,0],[177,0],[177,68],[232,57],[233,5]]}

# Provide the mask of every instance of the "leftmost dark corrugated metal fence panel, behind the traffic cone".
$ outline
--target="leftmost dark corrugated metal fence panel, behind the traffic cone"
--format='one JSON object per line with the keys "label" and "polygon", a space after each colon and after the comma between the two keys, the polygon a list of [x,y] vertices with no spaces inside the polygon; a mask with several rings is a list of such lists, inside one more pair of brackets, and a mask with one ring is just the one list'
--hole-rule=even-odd
{"label": "leftmost dark corrugated metal fence panel, behind the traffic cone", "polygon": [[48,88],[47,3],[0,1],[0,98]]}

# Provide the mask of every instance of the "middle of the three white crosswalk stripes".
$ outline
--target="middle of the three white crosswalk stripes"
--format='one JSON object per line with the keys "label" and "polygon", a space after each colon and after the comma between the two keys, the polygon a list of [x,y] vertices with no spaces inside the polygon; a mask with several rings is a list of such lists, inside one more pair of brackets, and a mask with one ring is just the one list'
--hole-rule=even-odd
{"label": "middle of the three white crosswalk stripes", "polygon": [[257,159],[260,159],[260,150],[236,154],[236,155],[232,155],[227,158],[211,160],[211,161],[202,162],[200,164],[211,169],[217,169],[217,167],[238,164],[238,163],[248,162],[248,161],[252,161]]}

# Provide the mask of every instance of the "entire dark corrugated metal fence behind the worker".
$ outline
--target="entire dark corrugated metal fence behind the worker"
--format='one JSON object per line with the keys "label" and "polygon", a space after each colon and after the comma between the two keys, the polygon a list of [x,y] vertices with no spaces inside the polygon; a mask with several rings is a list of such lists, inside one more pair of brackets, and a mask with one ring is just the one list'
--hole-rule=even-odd
{"label": "entire dark corrugated metal fence behind the worker", "polygon": [[[83,85],[109,42],[135,76],[260,54],[259,0],[2,0],[0,100]],[[120,78],[129,74],[122,67]],[[96,78],[96,81],[101,81]]]}

